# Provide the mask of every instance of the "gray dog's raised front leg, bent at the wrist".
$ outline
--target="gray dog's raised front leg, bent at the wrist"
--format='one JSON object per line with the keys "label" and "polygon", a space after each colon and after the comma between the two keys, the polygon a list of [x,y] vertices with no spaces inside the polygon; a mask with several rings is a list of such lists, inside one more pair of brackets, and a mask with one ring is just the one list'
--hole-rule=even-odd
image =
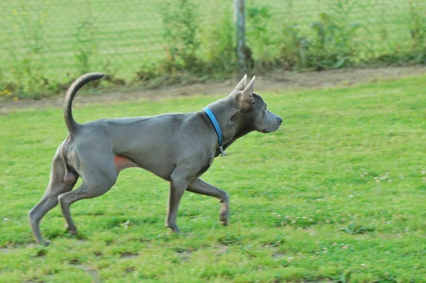
{"label": "gray dog's raised front leg, bent at the wrist", "polygon": [[229,218],[229,196],[222,189],[212,186],[198,178],[190,182],[187,191],[204,194],[205,196],[214,196],[220,201],[220,221],[226,226]]}

